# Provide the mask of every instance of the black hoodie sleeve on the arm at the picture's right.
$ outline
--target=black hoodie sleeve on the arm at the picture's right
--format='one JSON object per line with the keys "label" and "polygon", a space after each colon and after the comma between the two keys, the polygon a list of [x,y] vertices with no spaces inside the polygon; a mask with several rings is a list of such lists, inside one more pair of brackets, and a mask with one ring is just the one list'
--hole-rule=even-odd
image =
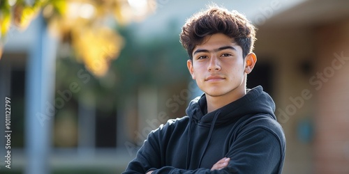
{"label": "black hoodie sleeve on the arm at the picture's right", "polygon": [[248,129],[232,143],[228,168],[236,173],[281,173],[283,143],[264,127]]}

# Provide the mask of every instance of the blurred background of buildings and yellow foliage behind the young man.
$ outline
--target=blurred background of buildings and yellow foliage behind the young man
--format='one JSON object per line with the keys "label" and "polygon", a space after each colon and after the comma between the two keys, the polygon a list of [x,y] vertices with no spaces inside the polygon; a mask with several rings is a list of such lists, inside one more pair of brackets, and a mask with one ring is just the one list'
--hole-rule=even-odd
{"label": "blurred background of buildings and yellow foliage behind the young man", "polygon": [[[247,84],[276,102],[283,173],[349,173],[349,1],[213,2],[258,28]],[[1,0],[0,173],[124,171],[147,134],[202,93],[179,33],[207,3]]]}

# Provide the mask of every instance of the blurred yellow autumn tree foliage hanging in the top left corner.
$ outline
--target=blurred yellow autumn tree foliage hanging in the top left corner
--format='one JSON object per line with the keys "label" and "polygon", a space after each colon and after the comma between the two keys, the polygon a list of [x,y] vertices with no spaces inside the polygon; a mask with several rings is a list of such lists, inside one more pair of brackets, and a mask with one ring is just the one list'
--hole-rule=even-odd
{"label": "blurred yellow autumn tree foliage hanging in the top left corner", "polygon": [[41,13],[61,43],[71,46],[77,60],[101,77],[124,45],[114,26],[141,20],[155,8],[155,0],[1,0],[0,56],[6,35],[27,29]]}

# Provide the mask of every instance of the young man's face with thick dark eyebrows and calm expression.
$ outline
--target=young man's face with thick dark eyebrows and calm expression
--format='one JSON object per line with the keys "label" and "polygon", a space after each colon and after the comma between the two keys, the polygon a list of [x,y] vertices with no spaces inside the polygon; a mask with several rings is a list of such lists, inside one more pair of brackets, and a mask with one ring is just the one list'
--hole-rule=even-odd
{"label": "young man's face with thick dark eyebrows and calm expression", "polygon": [[227,35],[216,33],[207,35],[193,49],[193,60],[187,64],[191,76],[207,95],[239,98],[245,93],[246,73],[251,72],[245,61],[242,47]]}

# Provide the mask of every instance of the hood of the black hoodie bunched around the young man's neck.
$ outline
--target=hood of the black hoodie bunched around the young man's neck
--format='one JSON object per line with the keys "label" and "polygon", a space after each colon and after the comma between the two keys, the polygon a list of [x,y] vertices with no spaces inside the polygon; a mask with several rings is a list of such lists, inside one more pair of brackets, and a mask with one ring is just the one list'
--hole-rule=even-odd
{"label": "hood of the black hoodie bunched around the young man's neck", "polygon": [[242,116],[253,116],[260,113],[265,113],[265,115],[276,120],[274,111],[275,103],[272,97],[263,91],[262,86],[257,86],[251,90],[246,90],[246,95],[238,100],[210,113],[207,113],[207,100],[205,94],[203,94],[189,103],[186,114],[194,122],[206,126],[210,126],[215,117],[218,116],[214,122],[214,126],[216,127],[225,125]]}

